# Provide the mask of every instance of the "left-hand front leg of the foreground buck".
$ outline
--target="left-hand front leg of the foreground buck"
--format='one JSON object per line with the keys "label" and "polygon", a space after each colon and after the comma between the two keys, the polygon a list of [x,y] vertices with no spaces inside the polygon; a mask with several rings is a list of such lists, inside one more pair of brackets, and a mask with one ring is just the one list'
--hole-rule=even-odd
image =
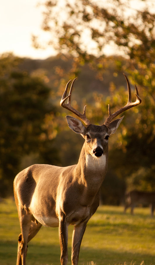
{"label": "left-hand front leg of the foreground buck", "polygon": [[67,243],[68,243],[68,224],[65,221],[65,218],[59,221],[59,240],[60,240],[60,249],[61,256],[60,261],[61,265],[66,265],[68,261],[68,252],[67,252]]}

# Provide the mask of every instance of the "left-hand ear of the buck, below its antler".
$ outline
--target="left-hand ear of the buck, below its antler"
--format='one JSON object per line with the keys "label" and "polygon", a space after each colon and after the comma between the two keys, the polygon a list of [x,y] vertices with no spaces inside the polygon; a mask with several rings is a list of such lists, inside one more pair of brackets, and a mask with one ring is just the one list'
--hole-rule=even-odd
{"label": "left-hand ear of the buck, below its antler", "polygon": [[70,127],[71,130],[73,130],[75,133],[79,133],[82,135],[84,134],[85,126],[82,124],[81,121],[69,115],[66,116],[66,119],[68,126]]}

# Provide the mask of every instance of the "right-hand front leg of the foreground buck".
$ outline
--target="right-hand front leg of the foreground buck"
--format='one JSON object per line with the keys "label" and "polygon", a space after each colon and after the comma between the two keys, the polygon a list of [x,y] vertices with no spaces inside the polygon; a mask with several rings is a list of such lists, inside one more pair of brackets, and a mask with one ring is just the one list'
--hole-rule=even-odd
{"label": "right-hand front leg of the foreground buck", "polygon": [[74,226],[73,236],[72,236],[72,265],[78,264],[81,241],[82,241],[86,226],[87,226],[87,222],[80,223]]}

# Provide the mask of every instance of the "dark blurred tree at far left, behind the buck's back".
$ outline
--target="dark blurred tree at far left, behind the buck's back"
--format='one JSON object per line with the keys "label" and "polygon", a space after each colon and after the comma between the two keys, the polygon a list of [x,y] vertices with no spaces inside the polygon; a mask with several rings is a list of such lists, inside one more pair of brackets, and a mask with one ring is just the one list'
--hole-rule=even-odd
{"label": "dark blurred tree at far left, behind the buck's back", "polygon": [[[0,194],[12,195],[13,180],[25,156],[37,162],[58,161],[43,123],[47,112],[56,108],[47,103],[49,87],[39,76],[19,69],[22,59],[12,54],[0,57]],[[26,164],[26,163],[23,163]],[[28,165],[27,165],[28,166]]]}

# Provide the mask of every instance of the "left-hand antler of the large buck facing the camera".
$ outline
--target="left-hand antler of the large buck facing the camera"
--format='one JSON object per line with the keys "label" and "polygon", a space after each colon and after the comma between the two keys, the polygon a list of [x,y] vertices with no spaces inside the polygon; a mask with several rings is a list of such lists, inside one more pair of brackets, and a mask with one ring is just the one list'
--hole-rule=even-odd
{"label": "left-hand antler of the large buck facing the camera", "polygon": [[[71,106],[71,95],[72,95],[72,90],[73,90],[73,85],[74,85],[75,80],[76,80],[76,78],[74,78],[74,80],[72,82],[72,85],[70,87],[69,95],[66,97],[67,91],[68,91],[68,85],[69,85],[69,83],[70,83],[71,80],[67,83],[66,88],[65,88],[65,91],[64,91],[63,96],[62,96],[62,99],[60,101],[60,106],[62,106],[65,109],[68,109],[68,110],[72,111],[76,116],[78,116],[79,118],[81,118],[81,120],[85,123],[85,125],[89,125],[90,124],[90,121],[87,119],[86,114],[85,114],[85,108],[86,108],[86,106],[84,107],[83,114],[81,114],[79,111],[77,111],[76,109],[74,109]],[[68,102],[67,103],[65,103],[66,99],[68,99]]]}

